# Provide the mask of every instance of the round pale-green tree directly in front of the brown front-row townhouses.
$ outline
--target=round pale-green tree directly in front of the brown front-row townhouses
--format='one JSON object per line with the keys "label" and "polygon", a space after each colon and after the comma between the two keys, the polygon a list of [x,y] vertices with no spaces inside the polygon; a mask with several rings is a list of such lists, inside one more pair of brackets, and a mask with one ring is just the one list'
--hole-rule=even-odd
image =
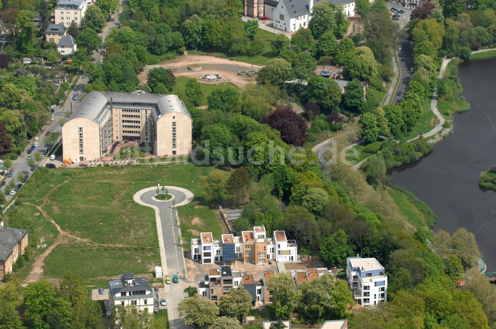
{"label": "round pale-green tree directly in front of the brown front-row townhouses", "polygon": [[233,288],[220,298],[220,314],[236,318],[243,323],[243,317],[251,310],[251,295],[244,287]]}

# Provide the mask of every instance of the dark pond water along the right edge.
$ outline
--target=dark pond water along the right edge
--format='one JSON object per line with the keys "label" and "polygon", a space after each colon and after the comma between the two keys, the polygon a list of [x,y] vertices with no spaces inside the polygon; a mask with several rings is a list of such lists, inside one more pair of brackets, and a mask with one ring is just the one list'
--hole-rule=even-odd
{"label": "dark pond water along the right edge", "polygon": [[476,236],[488,272],[496,271],[496,192],[479,187],[496,165],[496,59],[459,65],[471,109],[453,116],[454,132],[422,161],[391,171],[391,180],[414,193],[436,215],[434,232],[463,226]]}

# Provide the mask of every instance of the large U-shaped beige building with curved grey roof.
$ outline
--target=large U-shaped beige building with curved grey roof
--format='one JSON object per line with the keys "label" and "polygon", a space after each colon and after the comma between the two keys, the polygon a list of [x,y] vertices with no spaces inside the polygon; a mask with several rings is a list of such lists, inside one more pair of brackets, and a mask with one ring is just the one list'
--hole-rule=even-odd
{"label": "large U-shaped beige building with curved grey roof", "polygon": [[62,126],[63,159],[101,159],[113,141],[149,145],[158,157],[191,153],[192,120],[176,95],[90,92]]}

